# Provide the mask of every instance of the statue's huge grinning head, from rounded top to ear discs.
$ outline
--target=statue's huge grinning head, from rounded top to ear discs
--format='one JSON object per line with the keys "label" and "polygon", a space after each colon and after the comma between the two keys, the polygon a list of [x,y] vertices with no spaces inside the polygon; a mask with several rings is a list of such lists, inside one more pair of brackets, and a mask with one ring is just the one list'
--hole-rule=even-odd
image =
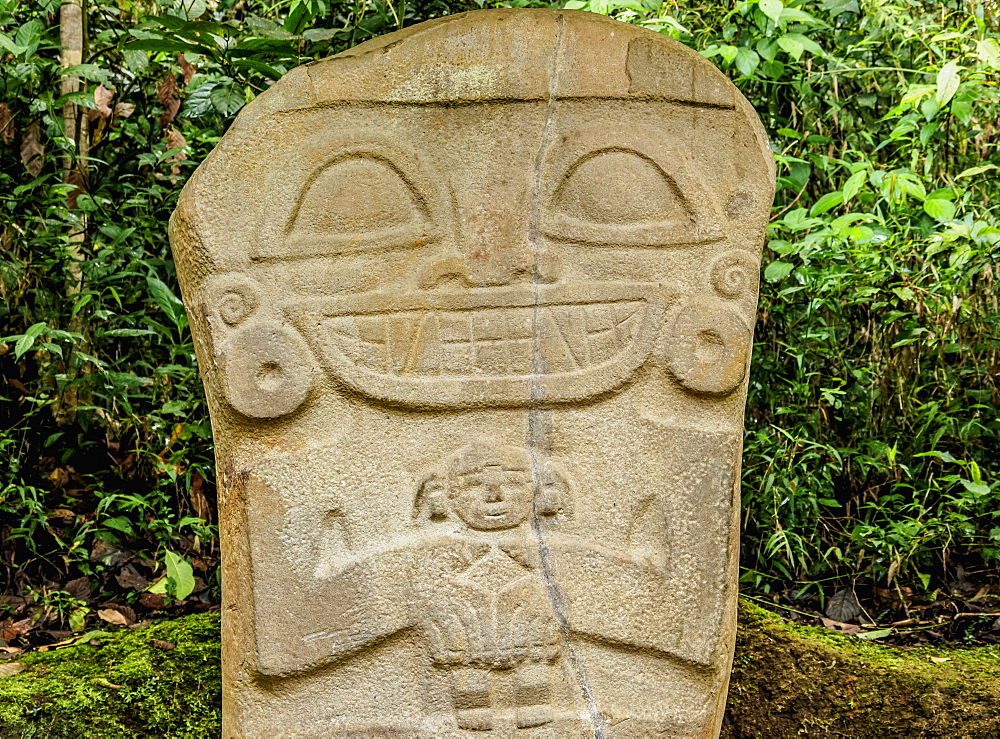
{"label": "statue's huge grinning head, from rounded top to ear discs", "polygon": [[743,385],[773,189],[752,108],[647,30],[490,17],[300,67],[185,189],[179,259],[207,278],[243,416],[290,415],[323,382],[407,408],[555,406],[654,357],[689,394]]}

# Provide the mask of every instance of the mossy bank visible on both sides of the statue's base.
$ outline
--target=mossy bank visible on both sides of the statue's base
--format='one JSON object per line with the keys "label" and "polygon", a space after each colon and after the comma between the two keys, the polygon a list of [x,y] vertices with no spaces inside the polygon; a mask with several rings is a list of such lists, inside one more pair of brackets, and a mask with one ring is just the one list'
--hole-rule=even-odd
{"label": "mossy bank visible on both sides of the statue's base", "polygon": [[[219,736],[217,615],[97,642],[0,677],[0,737]],[[1000,648],[892,649],[742,604],[723,737],[801,736],[994,739]]]}

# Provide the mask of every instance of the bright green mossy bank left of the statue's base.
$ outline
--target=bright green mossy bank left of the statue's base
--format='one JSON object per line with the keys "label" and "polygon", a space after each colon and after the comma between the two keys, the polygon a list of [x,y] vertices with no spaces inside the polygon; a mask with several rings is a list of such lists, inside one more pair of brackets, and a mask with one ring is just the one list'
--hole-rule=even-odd
{"label": "bright green mossy bank left of the statue's base", "polygon": [[[152,640],[159,640],[159,646]],[[188,616],[36,653],[0,678],[3,737],[215,737],[219,617]],[[173,649],[164,648],[170,644]]]}

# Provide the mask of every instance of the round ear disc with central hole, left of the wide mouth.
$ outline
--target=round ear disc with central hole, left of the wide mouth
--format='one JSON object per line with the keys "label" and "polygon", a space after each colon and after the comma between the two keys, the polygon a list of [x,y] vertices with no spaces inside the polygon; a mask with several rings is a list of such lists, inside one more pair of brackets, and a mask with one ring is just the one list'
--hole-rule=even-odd
{"label": "round ear disc with central hole, left of the wide mouth", "polygon": [[312,389],[309,349],[287,326],[243,326],[232,333],[222,354],[229,404],[249,418],[287,416]]}

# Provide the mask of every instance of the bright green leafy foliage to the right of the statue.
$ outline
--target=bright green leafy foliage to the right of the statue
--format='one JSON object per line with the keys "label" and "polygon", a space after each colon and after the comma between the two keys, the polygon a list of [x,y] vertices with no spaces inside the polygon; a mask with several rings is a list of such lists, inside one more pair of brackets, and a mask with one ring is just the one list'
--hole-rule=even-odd
{"label": "bright green leafy foliage to the right of the statue", "polygon": [[634,15],[733,74],[776,152],[745,580],[929,590],[963,557],[995,568],[995,20],[905,0],[716,10]]}

